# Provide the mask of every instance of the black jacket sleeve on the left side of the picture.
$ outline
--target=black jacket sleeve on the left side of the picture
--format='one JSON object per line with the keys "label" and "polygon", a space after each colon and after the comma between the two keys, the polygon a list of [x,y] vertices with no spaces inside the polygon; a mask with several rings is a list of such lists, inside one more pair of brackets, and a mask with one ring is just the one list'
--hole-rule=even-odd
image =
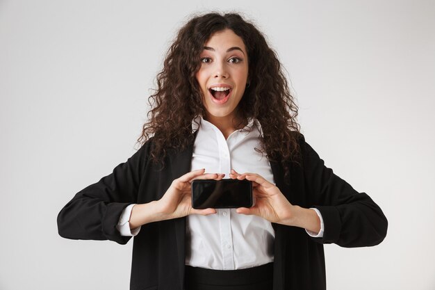
{"label": "black jacket sleeve on the left side of the picture", "polygon": [[76,193],[58,214],[58,232],[67,239],[111,240],[125,244],[116,225],[122,211],[136,203],[149,142],[99,182]]}

